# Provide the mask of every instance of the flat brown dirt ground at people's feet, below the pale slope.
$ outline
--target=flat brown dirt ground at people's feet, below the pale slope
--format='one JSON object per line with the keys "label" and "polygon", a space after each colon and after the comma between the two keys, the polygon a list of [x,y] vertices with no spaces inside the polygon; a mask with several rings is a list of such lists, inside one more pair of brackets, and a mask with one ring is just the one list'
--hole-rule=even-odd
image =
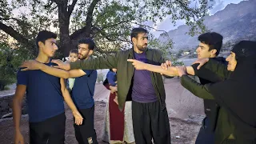
{"label": "flat brown dirt ground at people's feet, below the pale slope", "polygon": [[[106,110],[106,102],[95,102],[95,130],[98,135],[98,142],[102,142],[102,130],[104,123],[104,114]],[[198,122],[188,122],[179,118],[170,119],[170,134],[173,144],[181,143],[194,143],[194,138],[198,134],[199,126]],[[25,138],[26,143],[29,143],[29,127],[28,116],[23,115],[21,121],[21,130]],[[175,138],[180,136],[180,138]],[[2,144],[14,143],[14,125],[12,118],[2,119],[0,121],[0,140]],[[74,137],[73,117],[69,108],[66,107],[66,144],[78,144]]]}

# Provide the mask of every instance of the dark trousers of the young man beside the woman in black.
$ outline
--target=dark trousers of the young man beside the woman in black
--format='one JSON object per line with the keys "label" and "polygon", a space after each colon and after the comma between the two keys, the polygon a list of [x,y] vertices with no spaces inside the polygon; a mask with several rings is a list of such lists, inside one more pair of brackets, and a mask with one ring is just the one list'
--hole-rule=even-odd
{"label": "dark trousers of the young man beside the woman in black", "polygon": [[209,119],[204,118],[195,144],[214,144],[214,132],[209,130],[209,125]]}

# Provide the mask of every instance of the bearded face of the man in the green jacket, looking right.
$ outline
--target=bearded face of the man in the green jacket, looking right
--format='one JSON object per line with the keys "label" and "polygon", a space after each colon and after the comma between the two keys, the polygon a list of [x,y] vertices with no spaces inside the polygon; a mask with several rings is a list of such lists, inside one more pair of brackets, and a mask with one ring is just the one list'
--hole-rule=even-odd
{"label": "bearded face of the man in the green jacket, looking right", "polygon": [[145,51],[147,47],[148,35],[146,33],[138,34],[137,38],[133,38],[134,46],[140,51]]}

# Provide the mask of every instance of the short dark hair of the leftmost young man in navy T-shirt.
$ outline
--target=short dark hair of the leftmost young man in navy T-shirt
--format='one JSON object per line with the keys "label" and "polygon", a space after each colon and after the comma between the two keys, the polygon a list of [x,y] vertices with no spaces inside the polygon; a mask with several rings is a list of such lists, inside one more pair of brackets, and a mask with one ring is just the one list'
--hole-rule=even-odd
{"label": "short dark hair of the leftmost young man in navy T-shirt", "polygon": [[36,38],[36,46],[38,46],[38,42],[42,42],[43,44],[45,44],[46,40],[49,38],[57,38],[57,34],[54,34],[53,32],[50,32],[48,30],[42,30],[38,33],[38,36]]}

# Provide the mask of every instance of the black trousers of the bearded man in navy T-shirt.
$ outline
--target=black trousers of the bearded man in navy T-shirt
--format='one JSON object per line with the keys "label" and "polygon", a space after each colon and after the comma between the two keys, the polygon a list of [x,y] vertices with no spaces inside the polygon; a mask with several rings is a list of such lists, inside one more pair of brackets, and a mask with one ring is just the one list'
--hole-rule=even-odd
{"label": "black trousers of the bearded man in navy T-shirt", "polygon": [[79,144],[98,144],[94,130],[94,106],[89,109],[79,109],[82,115],[82,125],[74,123],[74,134]]}

